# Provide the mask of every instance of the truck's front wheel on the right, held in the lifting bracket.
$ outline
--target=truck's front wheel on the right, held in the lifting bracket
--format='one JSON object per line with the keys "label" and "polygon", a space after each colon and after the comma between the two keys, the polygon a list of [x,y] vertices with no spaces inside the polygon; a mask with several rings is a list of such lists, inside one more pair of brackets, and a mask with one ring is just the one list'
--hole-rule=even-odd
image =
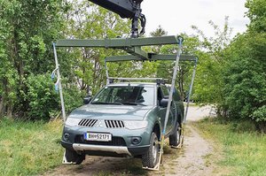
{"label": "truck's front wheel on the right, held in the lifting bracket", "polygon": [[160,145],[158,142],[158,137],[153,132],[151,139],[150,139],[150,148],[142,156],[142,165],[144,167],[153,168],[155,167],[155,165],[157,165],[159,161],[159,149],[160,149]]}

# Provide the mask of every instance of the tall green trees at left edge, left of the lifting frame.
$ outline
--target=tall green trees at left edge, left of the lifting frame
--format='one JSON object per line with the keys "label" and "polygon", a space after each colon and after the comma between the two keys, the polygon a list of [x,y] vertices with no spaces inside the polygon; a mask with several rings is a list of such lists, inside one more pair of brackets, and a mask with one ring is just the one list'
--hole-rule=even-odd
{"label": "tall green trees at left edge, left of the lifting frame", "polygon": [[28,76],[54,67],[51,41],[59,38],[64,27],[62,13],[66,6],[58,0],[0,2],[1,115],[27,114],[31,106],[24,100],[31,84],[27,83]]}

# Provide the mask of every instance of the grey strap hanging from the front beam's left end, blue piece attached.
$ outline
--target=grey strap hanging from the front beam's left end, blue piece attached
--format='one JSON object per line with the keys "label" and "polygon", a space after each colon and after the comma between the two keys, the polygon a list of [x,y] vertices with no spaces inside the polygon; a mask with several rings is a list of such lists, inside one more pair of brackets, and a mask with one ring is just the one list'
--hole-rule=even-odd
{"label": "grey strap hanging from the front beam's left end, blue piece attached", "polygon": [[55,63],[56,63],[56,71],[58,75],[58,83],[59,83],[59,95],[60,95],[60,100],[61,100],[61,107],[62,107],[62,116],[64,119],[64,122],[66,122],[66,111],[65,111],[65,103],[64,103],[64,97],[63,97],[63,89],[61,85],[61,77],[60,77],[60,72],[59,72],[59,61],[58,61],[58,54],[56,50],[56,44],[52,43],[52,48],[53,48],[53,53],[54,53],[54,58],[55,58]]}

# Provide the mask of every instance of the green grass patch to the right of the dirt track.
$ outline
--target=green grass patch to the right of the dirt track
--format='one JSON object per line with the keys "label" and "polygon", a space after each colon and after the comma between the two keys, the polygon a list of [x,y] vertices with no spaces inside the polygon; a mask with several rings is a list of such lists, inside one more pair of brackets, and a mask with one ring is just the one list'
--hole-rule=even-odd
{"label": "green grass patch to the right of the dirt track", "polygon": [[224,122],[204,119],[194,123],[204,136],[222,145],[225,175],[266,175],[266,135],[254,131],[249,122]]}

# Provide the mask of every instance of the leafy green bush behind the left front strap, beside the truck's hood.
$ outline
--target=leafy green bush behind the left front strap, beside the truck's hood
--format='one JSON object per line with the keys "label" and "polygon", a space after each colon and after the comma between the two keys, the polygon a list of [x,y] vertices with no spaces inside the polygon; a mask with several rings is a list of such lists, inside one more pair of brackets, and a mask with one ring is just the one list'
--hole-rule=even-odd
{"label": "leafy green bush behind the left front strap, beside the truck's hood", "polygon": [[[54,89],[50,74],[31,74],[26,80],[27,92],[24,94],[24,106],[27,119],[49,120],[57,117],[61,111],[59,91]],[[63,95],[66,114],[82,105],[82,92],[75,86],[63,83]],[[24,108],[25,109],[25,108]]]}

